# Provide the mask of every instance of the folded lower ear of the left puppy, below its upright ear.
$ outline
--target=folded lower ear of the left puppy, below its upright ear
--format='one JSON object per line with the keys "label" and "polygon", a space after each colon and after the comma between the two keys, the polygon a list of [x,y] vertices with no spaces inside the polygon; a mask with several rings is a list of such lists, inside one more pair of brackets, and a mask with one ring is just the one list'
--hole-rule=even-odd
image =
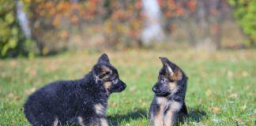
{"label": "folded lower ear of the left puppy, below its upright ear", "polygon": [[112,70],[107,65],[95,65],[92,68],[93,76],[103,79],[111,75]]}

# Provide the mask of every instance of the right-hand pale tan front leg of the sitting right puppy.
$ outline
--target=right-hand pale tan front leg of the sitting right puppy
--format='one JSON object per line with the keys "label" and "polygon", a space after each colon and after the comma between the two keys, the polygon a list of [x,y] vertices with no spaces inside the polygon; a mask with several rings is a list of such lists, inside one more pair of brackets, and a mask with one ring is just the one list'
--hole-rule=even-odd
{"label": "right-hand pale tan front leg of the sitting right puppy", "polygon": [[171,102],[168,110],[164,113],[164,126],[171,126],[175,123],[182,105],[180,102]]}

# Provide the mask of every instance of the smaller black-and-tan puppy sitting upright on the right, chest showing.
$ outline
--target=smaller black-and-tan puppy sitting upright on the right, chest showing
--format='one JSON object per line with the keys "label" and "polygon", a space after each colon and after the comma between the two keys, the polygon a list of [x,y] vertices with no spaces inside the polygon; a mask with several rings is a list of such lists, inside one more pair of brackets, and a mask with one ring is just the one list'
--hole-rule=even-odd
{"label": "smaller black-and-tan puppy sitting upright on the right, chest showing", "polygon": [[183,70],[168,58],[160,57],[160,60],[163,67],[152,87],[155,96],[149,108],[149,119],[153,126],[171,126],[180,115],[187,115],[184,100],[188,78]]}

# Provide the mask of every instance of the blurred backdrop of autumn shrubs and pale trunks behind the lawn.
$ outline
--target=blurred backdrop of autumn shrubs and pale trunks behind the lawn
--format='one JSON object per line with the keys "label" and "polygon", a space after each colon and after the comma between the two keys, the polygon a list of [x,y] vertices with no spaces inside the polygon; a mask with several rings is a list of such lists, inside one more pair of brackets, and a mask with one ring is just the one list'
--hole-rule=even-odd
{"label": "blurred backdrop of autumn shrubs and pale trunks behind the lawn", "polygon": [[255,0],[0,0],[0,57],[255,47]]}

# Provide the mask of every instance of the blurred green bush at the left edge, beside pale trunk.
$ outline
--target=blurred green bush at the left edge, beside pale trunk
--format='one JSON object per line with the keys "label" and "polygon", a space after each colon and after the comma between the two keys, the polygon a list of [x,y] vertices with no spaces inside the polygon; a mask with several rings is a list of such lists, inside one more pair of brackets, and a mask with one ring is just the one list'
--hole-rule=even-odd
{"label": "blurred green bush at the left edge, beside pale trunk", "polygon": [[15,7],[14,0],[0,0],[0,57],[32,54],[32,41],[24,38]]}

